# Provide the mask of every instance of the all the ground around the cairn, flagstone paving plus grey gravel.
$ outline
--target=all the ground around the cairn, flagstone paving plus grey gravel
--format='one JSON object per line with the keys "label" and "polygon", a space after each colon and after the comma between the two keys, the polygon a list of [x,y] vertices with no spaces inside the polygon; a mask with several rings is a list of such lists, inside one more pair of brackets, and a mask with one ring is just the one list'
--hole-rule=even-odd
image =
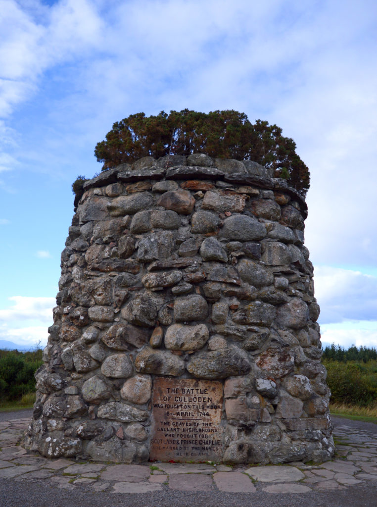
{"label": "all the ground around the cairn, flagstone paving plus grey gravel", "polygon": [[[17,445],[31,410],[0,413],[0,507],[376,507],[377,425],[333,418],[321,465],[213,467],[48,460]],[[16,444],[16,445],[15,445]],[[245,492],[247,491],[247,492]]]}

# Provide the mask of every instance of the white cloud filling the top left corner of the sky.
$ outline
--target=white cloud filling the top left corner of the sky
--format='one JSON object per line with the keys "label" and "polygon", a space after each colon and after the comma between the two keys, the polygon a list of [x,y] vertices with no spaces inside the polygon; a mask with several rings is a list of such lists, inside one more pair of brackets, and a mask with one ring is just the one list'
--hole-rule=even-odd
{"label": "white cloud filling the top left corner of the sky", "polygon": [[14,0],[0,0],[0,11],[0,116],[4,117],[35,93],[46,69],[98,47],[101,19],[87,0],[62,0],[51,8],[35,3],[24,9]]}

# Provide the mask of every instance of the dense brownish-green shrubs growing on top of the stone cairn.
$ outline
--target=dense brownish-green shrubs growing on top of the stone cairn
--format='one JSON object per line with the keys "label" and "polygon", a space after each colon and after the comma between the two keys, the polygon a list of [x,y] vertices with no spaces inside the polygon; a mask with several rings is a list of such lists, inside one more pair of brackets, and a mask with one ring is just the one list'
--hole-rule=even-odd
{"label": "dense brownish-green shrubs growing on top of the stone cairn", "polygon": [[114,123],[106,139],[94,150],[102,170],[141,157],[205,153],[210,157],[253,160],[273,168],[275,177],[303,195],[309,189],[308,167],[296,154],[296,144],[282,135],[277,125],[256,120],[251,123],[238,111],[213,111],[208,114],[184,109],[162,111],[156,116],[130,115]]}

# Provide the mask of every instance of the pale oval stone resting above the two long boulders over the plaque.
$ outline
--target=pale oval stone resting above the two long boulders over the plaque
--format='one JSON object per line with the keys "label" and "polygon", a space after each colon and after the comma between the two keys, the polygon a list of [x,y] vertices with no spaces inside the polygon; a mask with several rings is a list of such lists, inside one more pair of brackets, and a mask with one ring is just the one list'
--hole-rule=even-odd
{"label": "pale oval stone resting above the two long boulders over the plaque", "polygon": [[172,350],[198,350],[209,338],[205,324],[182,325],[173,324],[165,333],[165,347]]}

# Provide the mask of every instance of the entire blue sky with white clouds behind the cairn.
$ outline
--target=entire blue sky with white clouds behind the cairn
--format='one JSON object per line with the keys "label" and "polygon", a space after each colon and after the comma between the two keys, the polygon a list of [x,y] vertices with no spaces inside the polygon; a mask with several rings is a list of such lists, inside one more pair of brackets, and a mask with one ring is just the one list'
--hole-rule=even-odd
{"label": "entire blue sky with white clouds behind the cairn", "polygon": [[0,340],[46,344],[73,214],[112,123],[235,109],[311,171],[306,245],[324,343],[377,346],[377,6],[0,0]]}

